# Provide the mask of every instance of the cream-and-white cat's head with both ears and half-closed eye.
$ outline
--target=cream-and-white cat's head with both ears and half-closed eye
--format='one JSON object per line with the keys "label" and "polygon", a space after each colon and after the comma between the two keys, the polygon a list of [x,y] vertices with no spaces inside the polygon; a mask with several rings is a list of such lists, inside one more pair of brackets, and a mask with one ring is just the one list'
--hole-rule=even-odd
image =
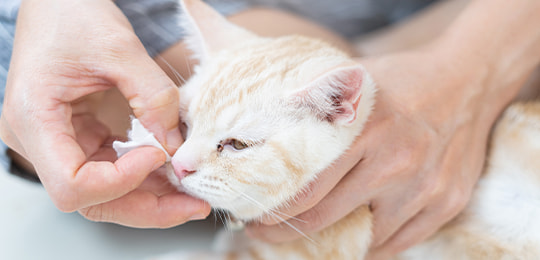
{"label": "cream-and-white cat's head with both ears and half-closed eye", "polygon": [[300,36],[263,38],[184,1],[200,64],[180,88],[185,143],[170,181],[249,220],[284,204],[353,142],[374,84],[343,52]]}

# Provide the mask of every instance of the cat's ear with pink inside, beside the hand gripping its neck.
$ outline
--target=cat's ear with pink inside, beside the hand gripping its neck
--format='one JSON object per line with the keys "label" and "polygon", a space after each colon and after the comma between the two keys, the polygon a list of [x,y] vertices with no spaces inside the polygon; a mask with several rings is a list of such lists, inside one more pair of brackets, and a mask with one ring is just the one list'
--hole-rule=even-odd
{"label": "cat's ear with pink inside, beside the hand gripping its neck", "polygon": [[350,124],[356,119],[363,84],[372,84],[361,65],[332,69],[293,94],[293,102],[319,119]]}

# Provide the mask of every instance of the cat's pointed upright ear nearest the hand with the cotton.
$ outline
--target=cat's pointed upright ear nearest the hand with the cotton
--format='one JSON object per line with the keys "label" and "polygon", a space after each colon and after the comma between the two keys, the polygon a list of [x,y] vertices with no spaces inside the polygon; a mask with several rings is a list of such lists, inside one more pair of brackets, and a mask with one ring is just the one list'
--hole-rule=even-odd
{"label": "cat's pointed upright ear nearest the hand with the cotton", "polygon": [[187,34],[185,42],[201,63],[216,52],[254,37],[200,0],[180,2],[183,11],[180,24]]}

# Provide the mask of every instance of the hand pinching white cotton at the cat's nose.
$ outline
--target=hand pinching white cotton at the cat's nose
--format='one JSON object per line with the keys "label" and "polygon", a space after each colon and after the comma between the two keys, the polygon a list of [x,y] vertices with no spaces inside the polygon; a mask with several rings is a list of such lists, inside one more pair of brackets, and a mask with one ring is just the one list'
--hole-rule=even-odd
{"label": "hand pinching white cotton at the cat's nose", "polygon": [[182,143],[177,89],[112,1],[22,2],[0,133],[32,162],[55,205],[136,227],[206,216],[208,204],[173,192],[156,175],[147,178],[165,162],[159,149],[116,158],[109,128],[85,98],[111,87],[174,152]]}

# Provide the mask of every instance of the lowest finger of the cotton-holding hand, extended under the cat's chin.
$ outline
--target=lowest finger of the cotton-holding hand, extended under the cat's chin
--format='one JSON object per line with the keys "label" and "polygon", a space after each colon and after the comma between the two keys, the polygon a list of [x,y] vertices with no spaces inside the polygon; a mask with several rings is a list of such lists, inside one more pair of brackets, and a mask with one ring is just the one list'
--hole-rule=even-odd
{"label": "lowest finger of the cotton-holding hand, extended under the cat's chin", "polygon": [[158,197],[137,189],[119,199],[81,209],[79,213],[93,221],[139,228],[168,228],[205,218],[210,213],[210,206],[183,193]]}

